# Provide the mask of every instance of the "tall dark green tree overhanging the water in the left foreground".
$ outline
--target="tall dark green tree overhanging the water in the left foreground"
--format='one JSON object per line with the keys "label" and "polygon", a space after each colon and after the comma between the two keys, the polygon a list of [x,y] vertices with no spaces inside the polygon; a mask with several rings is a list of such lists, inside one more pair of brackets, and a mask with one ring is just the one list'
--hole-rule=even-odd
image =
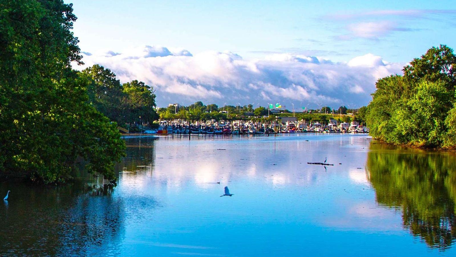
{"label": "tall dark green tree overhanging the water in the left foreground", "polygon": [[88,103],[76,16],[62,0],[0,2],[0,177],[64,182],[80,159],[114,178],[116,125]]}

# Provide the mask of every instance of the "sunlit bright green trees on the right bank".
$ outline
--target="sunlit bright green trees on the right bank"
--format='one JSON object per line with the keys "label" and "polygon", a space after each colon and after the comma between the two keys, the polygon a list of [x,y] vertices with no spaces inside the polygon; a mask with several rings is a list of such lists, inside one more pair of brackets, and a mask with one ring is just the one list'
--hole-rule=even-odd
{"label": "sunlit bright green trees on the right bank", "polygon": [[375,138],[394,144],[454,149],[455,103],[451,48],[432,47],[404,67],[404,76],[379,79],[365,119]]}

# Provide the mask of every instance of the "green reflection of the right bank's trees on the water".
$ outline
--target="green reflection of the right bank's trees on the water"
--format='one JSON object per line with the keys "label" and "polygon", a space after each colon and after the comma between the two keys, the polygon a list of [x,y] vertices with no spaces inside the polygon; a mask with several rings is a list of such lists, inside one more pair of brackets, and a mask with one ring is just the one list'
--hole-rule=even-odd
{"label": "green reflection of the right bank's trees on the water", "polygon": [[[396,149],[396,150],[394,150]],[[371,144],[367,171],[378,204],[402,210],[404,227],[430,247],[456,238],[456,157]]]}

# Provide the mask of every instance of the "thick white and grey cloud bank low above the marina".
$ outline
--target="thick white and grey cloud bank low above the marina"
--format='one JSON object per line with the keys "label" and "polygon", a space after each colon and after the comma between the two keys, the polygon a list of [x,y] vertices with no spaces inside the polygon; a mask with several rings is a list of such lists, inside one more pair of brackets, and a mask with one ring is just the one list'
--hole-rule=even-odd
{"label": "thick white and grey cloud bank low above the marina", "polygon": [[335,63],[315,56],[271,54],[244,60],[233,52],[200,52],[145,46],[122,53],[83,52],[83,69],[100,64],[111,69],[121,82],[144,81],[156,89],[158,106],[178,102],[205,103],[291,103],[316,108],[367,105],[377,79],[401,73],[404,64],[388,63],[366,54]]}

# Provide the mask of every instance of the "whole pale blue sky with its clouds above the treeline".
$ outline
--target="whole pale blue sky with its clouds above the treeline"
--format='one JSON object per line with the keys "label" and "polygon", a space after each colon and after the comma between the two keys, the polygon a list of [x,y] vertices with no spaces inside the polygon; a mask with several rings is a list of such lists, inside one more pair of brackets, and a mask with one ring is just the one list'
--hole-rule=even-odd
{"label": "whole pale blue sky with its clouds above the treeline", "polygon": [[[145,62],[143,67],[150,68],[144,71],[152,73],[150,76],[138,79],[155,86],[159,105],[168,102],[188,104],[197,100],[198,97],[192,97],[190,93],[181,94],[185,89],[194,94],[200,92],[201,100],[217,102],[219,105],[253,100],[262,105],[268,100],[299,101],[297,104],[324,101],[329,105],[350,101],[355,104],[358,101],[358,104],[365,105],[370,100],[369,94],[374,90],[373,84],[379,75],[399,73],[400,67],[412,58],[419,57],[431,46],[456,46],[454,1],[72,2],[74,13],[78,16],[74,33],[80,39],[81,50],[88,53],[84,57],[86,63],[100,63],[112,68],[116,74],[123,74],[119,76],[121,80],[134,79],[131,76],[137,72],[122,66],[120,59],[132,59],[126,54],[132,49],[137,51],[138,47],[152,47],[145,50],[149,54],[134,59],[141,59]],[[160,56],[150,54],[150,49],[161,49],[157,50],[160,52],[163,47],[172,53],[158,54]],[[177,54],[179,49],[187,50],[192,57],[184,58],[182,54]],[[124,58],[106,58],[108,51],[121,53]],[[207,57],[207,52],[213,56]],[[196,58],[201,53],[206,58]],[[219,56],[221,53],[228,55],[228,59]],[[100,56],[103,58],[98,58]],[[347,64],[360,56],[365,56],[361,63]],[[297,67],[291,65],[293,62],[302,63],[303,57],[315,57],[319,62],[312,62],[314,66],[309,62]],[[207,66],[215,65],[213,58],[217,59],[215,63],[222,62],[222,68],[217,66],[222,70],[217,68],[215,73],[207,73]],[[209,61],[204,63],[205,60]],[[352,73],[349,77],[354,78],[357,72],[368,72],[372,78],[356,78],[356,83],[351,81],[351,84],[346,85],[328,84],[328,79],[334,79],[333,73],[313,73],[318,68],[328,70],[327,66],[317,65],[322,64],[322,60],[333,63],[332,68],[338,66],[334,73],[339,74],[337,76],[341,80],[347,79],[344,77],[347,73]],[[202,77],[195,77],[171,70],[176,63],[182,66],[182,62],[199,65],[206,72],[199,73]],[[163,67],[164,63],[166,68]],[[375,63],[386,70],[379,71],[378,65],[374,67]],[[140,66],[140,60],[135,64]],[[248,67],[254,74],[259,72],[260,76],[251,79],[252,73],[233,72],[230,65],[237,68],[241,65],[243,68],[240,70]],[[339,67],[344,65],[346,67]],[[228,71],[225,70],[225,73],[231,74],[231,79],[223,75],[226,68]],[[296,69],[293,77],[286,74],[290,68]],[[161,70],[158,75],[154,73],[157,69]],[[299,71],[303,72],[299,74]],[[307,76],[309,73],[312,73],[310,79]],[[163,74],[180,83],[181,88],[176,89],[176,85],[170,88],[171,85],[163,80]],[[307,77],[296,79],[298,75]],[[157,76],[161,79],[157,79]],[[312,80],[310,84],[309,80]],[[186,86],[182,87],[182,84]],[[241,92],[234,89],[246,89],[249,84],[253,84],[251,90]],[[271,84],[273,88],[269,91],[274,94],[259,90],[258,84]],[[356,87],[359,90],[353,89]],[[288,91],[276,93],[276,89]],[[304,93],[301,97],[290,98],[290,94],[298,92],[296,90]],[[329,91],[331,94],[326,93]],[[340,96],[348,91],[350,93],[347,95]],[[163,95],[160,96],[160,93]]]}

